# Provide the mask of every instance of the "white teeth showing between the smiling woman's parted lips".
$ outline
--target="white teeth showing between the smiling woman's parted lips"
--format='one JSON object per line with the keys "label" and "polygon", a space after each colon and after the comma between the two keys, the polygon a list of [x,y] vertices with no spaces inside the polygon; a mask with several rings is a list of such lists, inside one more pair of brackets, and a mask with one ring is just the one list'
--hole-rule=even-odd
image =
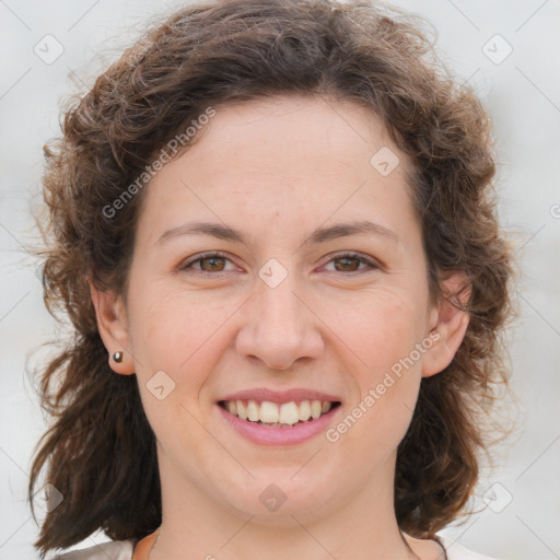
{"label": "white teeth showing between the smiling woman's parted lips", "polygon": [[340,401],[300,400],[270,402],[269,400],[219,400],[218,405],[242,420],[269,428],[291,428],[312,422],[340,406]]}

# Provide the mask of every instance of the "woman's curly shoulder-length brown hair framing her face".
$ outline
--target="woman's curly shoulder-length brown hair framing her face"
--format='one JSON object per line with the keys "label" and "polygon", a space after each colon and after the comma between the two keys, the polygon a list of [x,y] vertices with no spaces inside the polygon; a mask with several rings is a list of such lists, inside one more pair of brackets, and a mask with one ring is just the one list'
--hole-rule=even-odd
{"label": "woman's curly shoulder-length brown hair framing her face", "polygon": [[[398,446],[395,512],[401,530],[429,538],[465,509],[488,453],[482,420],[508,387],[512,248],[495,215],[489,118],[471,88],[441,65],[421,25],[366,0],[190,4],[145,30],[71,98],[62,136],[44,148],[44,299],[56,318],[70,319],[71,336],[38,385],[52,422],[36,446],[28,499],[33,510],[46,465],[63,497],[34,544],[42,558],[97,529],[140,539],[162,521],[155,438],[137,378],[109,368],[89,289],[91,278],[100,290],[126,292],[145,189],[118,212],[107,208],[209,106],[277,95],[366,106],[410,159],[430,295],[467,311],[469,324],[451,364],[421,381]],[[457,270],[468,279],[466,304],[443,292],[442,280]]]}

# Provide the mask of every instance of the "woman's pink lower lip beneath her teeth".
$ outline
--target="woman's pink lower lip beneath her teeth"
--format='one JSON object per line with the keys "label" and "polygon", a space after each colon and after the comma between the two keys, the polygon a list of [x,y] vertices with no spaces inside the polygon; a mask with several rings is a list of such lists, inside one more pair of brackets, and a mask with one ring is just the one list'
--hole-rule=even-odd
{"label": "woman's pink lower lip beneath her teeth", "polygon": [[329,410],[326,415],[320,416],[316,420],[307,420],[306,422],[294,424],[290,428],[271,428],[257,424],[249,420],[242,420],[237,416],[233,416],[228,410],[217,405],[223,418],[243,436],[254,443],[260,445],[294,445],[310,440],[320,432],[325,432],[334,416],[341,408],[338,405]]}

